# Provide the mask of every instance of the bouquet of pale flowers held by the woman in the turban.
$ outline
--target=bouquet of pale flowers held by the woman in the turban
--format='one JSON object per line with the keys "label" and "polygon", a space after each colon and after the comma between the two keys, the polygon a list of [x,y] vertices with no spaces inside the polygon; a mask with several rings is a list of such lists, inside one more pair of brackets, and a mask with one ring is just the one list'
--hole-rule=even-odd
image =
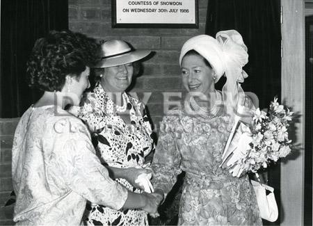
{"label": "bouquet of pale flowers held by the woman in the turban", "polygon": [[257,172],[268,163],[278,161],[291,152],[287,128],[293,112],[274,98],[268,113],[259,108],[252,112],[250,125],[236,116],[234,127],[227,140],[220,167],[230,170],[234,177],[243,172]]}

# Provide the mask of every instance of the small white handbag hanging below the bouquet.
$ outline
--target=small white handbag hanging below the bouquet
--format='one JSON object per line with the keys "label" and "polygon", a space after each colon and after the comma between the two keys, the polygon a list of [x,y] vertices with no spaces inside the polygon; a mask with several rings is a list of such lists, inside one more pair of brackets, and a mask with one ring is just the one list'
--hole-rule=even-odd
{"label": "small white handbag hanging below the bouquet", "polygon": [[[257,181],[250,180],[257,195],[257,205],[263,219],[274,222],[278,219],[278,207],[275,200],[274,188],[261,184]],[[269,194],[266,195],[266,190]]]}

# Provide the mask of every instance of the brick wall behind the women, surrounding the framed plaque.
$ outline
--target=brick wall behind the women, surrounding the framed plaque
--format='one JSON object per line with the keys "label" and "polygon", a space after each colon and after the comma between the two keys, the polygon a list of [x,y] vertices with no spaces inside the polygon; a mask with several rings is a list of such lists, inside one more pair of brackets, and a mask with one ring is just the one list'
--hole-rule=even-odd
{"label": "brick wall behind the women, surrounding the framed plaque", "polygon": [[186,40],[203,34],[207,0],[196,0],[199,7],[199,29],[112,29],[111,1],[69,0],[69,28],[94,38],[122,39],[136,49],[150,49],[155,55],[143,63],[143,75],[136,79],[131,92],[152,92],[147,108],[157,125],[163,113],[162,92],[180,92],[179,51]]}

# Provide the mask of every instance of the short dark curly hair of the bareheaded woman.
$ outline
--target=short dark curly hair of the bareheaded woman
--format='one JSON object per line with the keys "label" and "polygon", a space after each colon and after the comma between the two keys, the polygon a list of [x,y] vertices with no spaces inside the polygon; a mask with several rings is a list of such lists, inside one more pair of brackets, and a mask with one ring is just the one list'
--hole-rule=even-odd
{"label": "short dark curly hair of the bareheaded woman", "polygon": [[67,75],[79,79],[97,61],[99,44],[72,31],[50,31],[36,40],[27,62],[28,83],[43,91],[60,91]]}

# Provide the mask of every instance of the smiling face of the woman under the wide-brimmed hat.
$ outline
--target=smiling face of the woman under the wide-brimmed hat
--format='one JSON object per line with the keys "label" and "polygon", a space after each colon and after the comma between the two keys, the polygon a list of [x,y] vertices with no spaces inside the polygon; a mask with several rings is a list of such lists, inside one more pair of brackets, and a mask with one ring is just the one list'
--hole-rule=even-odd
{"label": "smiling face of the woman under the wide-brimmed hat", "polygon": [[124,92],[131,84],[134,74],[132,63],[104,68],[101,79],[102,88],[106,92]]}

